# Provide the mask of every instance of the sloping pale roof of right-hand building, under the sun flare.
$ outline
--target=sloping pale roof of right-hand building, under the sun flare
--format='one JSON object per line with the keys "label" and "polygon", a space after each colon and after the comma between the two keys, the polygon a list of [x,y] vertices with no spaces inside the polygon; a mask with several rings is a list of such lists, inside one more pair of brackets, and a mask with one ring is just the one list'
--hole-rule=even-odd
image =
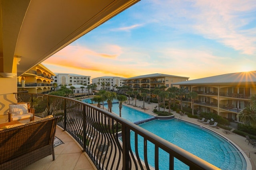
{"label": "sloping pale roof of right-hand building, under the sun flare", "polygon": [[184,82],[173,83],[176,85],[185,84],[222,84],[222,83],[247,83],[256,82],[256,71],[250,72],[236,72],[229,74],[222,74],[218,76],[210,76],[206,78],[199,78],[195,80],[188,80]]}

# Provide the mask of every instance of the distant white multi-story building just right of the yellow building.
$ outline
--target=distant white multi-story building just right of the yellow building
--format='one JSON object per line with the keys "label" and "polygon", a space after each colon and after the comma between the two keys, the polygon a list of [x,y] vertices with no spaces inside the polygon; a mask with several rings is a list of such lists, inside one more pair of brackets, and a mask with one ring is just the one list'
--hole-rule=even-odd
{"label": "distant white multi-story building just right of the yellow building", "polygon": [[[59,85],[75,85],[75,84],[86,84],[91,83],[91,76],[83,76],[79,74],[67,74],[67,73],[55,73],[55,76],[52,76],[54,83]],[[85,85],[85,86],[86,86]]]}

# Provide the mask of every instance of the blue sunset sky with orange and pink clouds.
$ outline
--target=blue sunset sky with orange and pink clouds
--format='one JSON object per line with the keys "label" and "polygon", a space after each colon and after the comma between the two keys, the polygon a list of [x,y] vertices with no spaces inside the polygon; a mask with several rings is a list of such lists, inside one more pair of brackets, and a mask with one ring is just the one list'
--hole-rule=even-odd
{"label": "blue sunset sky with orange and pink clouds", "polygon": [[42,64],[54,73],[189,80],[256,70],[255,0],[141,0]]}

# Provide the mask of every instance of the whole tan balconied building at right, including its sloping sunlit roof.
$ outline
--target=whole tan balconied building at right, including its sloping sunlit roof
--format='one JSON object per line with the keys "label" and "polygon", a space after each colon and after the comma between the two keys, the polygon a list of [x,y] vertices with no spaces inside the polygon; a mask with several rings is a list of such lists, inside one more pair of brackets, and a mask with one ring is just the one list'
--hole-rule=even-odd
{"label": "whole tan balconied building at right, including its sloping sunlit roof", "polygon": [[191,107],[187,94],[194,91],[198,94],[194,99],[194,109],[236,120],[237,113],[250,106],[250,98],[256,94],[256,71],[222,74],[175,85],[185,89],[183,107]]}

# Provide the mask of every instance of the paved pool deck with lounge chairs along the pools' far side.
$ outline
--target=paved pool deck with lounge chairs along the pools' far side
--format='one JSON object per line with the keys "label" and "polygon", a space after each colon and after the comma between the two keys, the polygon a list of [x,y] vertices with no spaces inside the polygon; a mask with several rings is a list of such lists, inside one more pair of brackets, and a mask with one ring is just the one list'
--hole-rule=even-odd
{"label": "paved pool deck with lounge chairs along the pools' far side", "polygon": [[[130,104],[135,104],[135,100],[130,101]],[[134,109],[138,109],[140,111],[144,111],[146,113],[152,114],[152,115],[156,115],[153,113],[153,110],[155,109],[154,107],[156,107],[158,104],[156,103],[144,103],[145,104],[145,108],[149,108],[149,110],[143,110],[139,107],[135,107],[129,104],[124,104],[126,106],[132,107]],[[136,100],[136,105],[137,106],[142,106],[143,105],[143,101],[139,101]],[[168,111],[168,110],[167,110]],[[197,125],[200,125],[202,127],[206,127],[208,129],[210,129],[211,131],[214,131],[215,133],[218,133],[219,135],[223,136],[224,138],[228,139],[230,142],[232,142],[234,145],[236,145],[237,147],[239,147],[241,150],[246,151],[244,152],[244,155],[247,156],[247,161],[251,162],[252,167],[247,167],[247,170],[256,170],[256,147],[253,148],[253,146],[251,144],[248,145],[248,141],[245,142],[246,137],[242,137],[240,135],[236,135],[235,133],[230,133],[230,134],[226,134],[223,133],[221,128],[216,129],[216,128],[212,128],[209,125],[205,125],[203,123],[200,123],[197,121],[197,119],[194,118],[190,118],[187,115],[180,115],[179,113],[176,113],[175,111],[172,111],[172,113],[175,115],[175,118],[177,119],[182,119],[184,121],[188,121]],[[250,160],[249,160],[249,152],[250,152]]]}

